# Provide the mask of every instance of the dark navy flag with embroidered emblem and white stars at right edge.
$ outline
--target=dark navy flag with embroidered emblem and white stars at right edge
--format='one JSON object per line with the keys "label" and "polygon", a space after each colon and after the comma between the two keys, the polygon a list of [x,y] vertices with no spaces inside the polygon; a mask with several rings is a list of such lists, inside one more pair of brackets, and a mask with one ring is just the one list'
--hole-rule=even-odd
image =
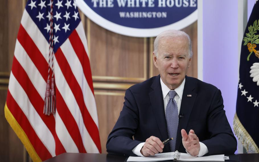
{"label": "dark navy flag with embroidered emblem and white stars at right edge", "polygon": [[259,2],[244,33],[234,132],[248,153],[259,153]]}

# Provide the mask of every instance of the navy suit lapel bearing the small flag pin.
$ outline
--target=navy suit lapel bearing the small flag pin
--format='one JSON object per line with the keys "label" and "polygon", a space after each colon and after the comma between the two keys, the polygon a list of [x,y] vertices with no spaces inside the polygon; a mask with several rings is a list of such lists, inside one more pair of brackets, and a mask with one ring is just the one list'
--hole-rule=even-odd
{"label": "navy suit lapel bearing the small flag pin", "polygon": [[196,80],[192,80],[191,78],[186,76],[184,91],[182,94],[181,108],[180,108],[180,115],[183,114],[183,118],[180,118],[178,123],[177,139],[176,139],[176,146],[175,146],[176,150],[179,149],[182,143],[181,130],[186,129],[190,114],[192,112],[192,108],[194,106],[194,102],[197,96],[197,94],[193,91],[195,87],[196,87]]}

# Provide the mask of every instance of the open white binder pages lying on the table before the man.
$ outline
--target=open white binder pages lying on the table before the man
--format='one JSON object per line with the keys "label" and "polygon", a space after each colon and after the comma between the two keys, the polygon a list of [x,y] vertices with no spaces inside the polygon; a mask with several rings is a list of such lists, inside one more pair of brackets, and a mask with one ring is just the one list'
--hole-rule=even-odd
{"label": "open white binder pages lying on the table before the man", "polygon": [[[169,153],[158,153],[154,156],[149,157],[140,157],[140,156],[130,156],[127,161],[136,161],[136,162],[152,162],[152,161],[163,161],[163,160],[173,160],[174,152]],[[225,161],[224,155],[210,155],[203,157],[193,157],[188,153],[180,153],[180,158],[178,161]]]}

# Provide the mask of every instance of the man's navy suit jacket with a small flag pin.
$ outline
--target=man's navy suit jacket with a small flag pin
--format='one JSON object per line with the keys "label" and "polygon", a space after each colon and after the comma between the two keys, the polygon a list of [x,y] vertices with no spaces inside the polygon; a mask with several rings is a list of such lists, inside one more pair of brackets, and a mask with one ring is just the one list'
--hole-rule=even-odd
{"label": "man's navy suit jacket with a small flag pin", "polygon": [[[187,95],[191,95],[188,97]],[[161,141],[168,139],[167,123],[160,75],[126,90],[125,102],[118,121],[108,136],[108,153],[135,155],[132,149],[150,136]],[[180,108],[176,150],[186,152],[182,145],[181,129],[193,129],[209,153],[233,154],[237,140],[233,135],[218,88],[196,78],[186,76]],[[171,152],[169,143],[163,152]]]}

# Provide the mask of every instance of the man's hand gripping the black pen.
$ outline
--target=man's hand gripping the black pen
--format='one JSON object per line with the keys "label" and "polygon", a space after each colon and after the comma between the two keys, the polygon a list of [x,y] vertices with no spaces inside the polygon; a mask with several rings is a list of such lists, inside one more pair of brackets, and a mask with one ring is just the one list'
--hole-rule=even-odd
{"label": "man's hand gripping the black pen", "polygon": [[159,138],[151,136],[146,140],[140,153],[144,156],[155,155],[156,153],[163,152],[163,148],[163,142]]}

